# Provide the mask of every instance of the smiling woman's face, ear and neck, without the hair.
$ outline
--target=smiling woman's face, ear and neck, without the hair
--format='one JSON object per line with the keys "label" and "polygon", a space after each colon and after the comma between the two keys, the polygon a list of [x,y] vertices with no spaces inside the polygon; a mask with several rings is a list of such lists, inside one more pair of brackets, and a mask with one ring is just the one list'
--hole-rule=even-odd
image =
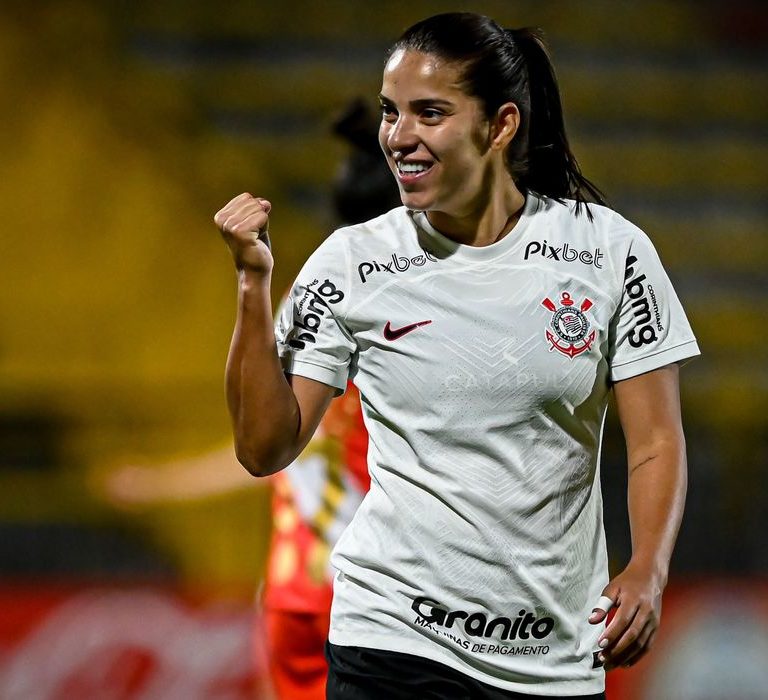
{"label": "smiling woman's face, ear and neck, without the hair", "polygon": [[430,54],[396,51],[379,95],[379,143],[405,206],[426,211],[455,241],[485,246],[512,229],[525,202],[504,159],[520,113],[509,102],[486,118],[462,88],[461,70]]}

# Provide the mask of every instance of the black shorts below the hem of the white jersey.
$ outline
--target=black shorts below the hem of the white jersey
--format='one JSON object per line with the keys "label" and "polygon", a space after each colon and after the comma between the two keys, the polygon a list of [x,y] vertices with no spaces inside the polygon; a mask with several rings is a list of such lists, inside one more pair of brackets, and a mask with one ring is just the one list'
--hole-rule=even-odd
{"label": "black shorts below the hem of the white jersey", "polygon": [[[325,645],[327,700],[530,700],[453,670],[445,664],[396,651]],[[559,697],[559,696],[558,696]],[[561,700],[605,700],[597,695],[569,695]]]}

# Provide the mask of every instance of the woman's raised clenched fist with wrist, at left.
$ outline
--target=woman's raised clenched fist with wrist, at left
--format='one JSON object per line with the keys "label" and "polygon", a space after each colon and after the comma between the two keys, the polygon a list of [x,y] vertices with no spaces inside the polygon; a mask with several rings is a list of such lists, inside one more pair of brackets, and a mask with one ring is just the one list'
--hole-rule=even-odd
{"label": "woman's raised clenched fist with wrist, at left", "polygon": [[268,275],[274,264],[269,249],[269,212],[272,205],[244,192],[216,213],[214,221],[229,246],[238,270]]}

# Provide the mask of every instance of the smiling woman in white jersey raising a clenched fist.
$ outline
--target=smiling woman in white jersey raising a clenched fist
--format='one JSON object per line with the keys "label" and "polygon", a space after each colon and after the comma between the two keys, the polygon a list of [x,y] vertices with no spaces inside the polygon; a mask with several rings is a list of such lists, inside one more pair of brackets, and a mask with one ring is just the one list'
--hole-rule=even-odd
{"label": "smiling woman in white jersey raising a clenched fist", "polygon": [[[347,379],[359,388],[371,489],[334,551],[328,697],[603,697],[604,668],[636,662],[658,626],[695,339],[647,237],[581,175],[535,33],[424,20],[380,99],[404,207],[330,236],[275,331],[269,202],[216,215],[239,275],[238,456],[281,469]],[[611,389],[633,554],[608,581]]]}

